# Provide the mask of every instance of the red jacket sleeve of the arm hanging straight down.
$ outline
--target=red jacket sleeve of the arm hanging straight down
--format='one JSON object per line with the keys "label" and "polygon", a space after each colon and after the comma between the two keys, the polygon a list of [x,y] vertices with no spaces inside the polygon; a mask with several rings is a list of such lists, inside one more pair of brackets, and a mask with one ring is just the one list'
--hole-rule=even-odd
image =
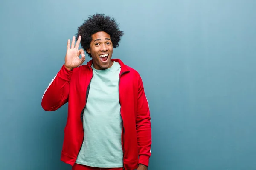
{"label": "red jacket sleeve of the arm hanging straight down", "polygon": [[151,122],[148,100],[145,96],[143,82],[139,76],[137,105],[137,141],[139,149],[139,164],[148,166],[151,156]]}

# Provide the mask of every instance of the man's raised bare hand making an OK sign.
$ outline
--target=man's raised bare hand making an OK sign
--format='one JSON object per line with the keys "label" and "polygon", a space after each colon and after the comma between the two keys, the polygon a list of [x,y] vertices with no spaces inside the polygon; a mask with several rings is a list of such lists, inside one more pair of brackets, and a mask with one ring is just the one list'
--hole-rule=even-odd
{"label": "man's raised bare hand making an OK sign", "polygon": [[[84,50],[83,49],[78,50],[80,41],[81,41],[80,35],[76,42],[76,46],[75,46],[75,36],[73,36],[71,47],[70,47],[70,39],[68,39],[67,41],[67,53],[65,56],[64,66],[68,70],[72,70],[73,68],[78,67],[79,65],[83,64],[83,62],[85,61]],[[81,59],[79,58],[80,54],[82,56]]]}

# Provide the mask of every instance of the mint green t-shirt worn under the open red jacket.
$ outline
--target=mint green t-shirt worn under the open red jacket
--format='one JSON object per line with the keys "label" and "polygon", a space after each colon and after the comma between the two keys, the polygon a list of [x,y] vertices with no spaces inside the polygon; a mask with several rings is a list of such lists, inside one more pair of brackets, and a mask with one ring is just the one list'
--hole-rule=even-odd
{"label": "mint green t-shirt worn under the open red jacket", "polygon": [[122,118],[119,104],[121,66],[96,70],[84,109],[84,142],[76,163],[91,167],[123,167]]}

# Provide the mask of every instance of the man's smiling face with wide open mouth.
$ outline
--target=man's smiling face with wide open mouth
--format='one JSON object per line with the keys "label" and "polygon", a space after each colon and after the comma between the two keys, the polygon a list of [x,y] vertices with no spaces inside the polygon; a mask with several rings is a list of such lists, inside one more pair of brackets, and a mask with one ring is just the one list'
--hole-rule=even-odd
{"label": "man's smiling face with wide open mouth", "polygon": [[113,65],[111,61],[113,45],[109,34],[105,32],[93,34],[90,49],[87,49],[87,52],[92,55],[95,69],[103,70]]}

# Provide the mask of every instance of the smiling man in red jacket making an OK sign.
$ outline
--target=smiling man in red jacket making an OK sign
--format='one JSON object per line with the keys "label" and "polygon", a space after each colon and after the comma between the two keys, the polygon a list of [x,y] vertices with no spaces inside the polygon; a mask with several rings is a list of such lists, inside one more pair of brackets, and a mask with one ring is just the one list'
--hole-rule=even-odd
{"label": "smiling man in red jacket making an OK sign", "polygon": [[[46,111],[68,102],[61,161],[72,170],[148,169],[151,118],[143,82],[137,71],[111,59],[122,35],[113,18],[90,16],[71,46],[68,40],[65,63],[44,92]],[[81,65],[84,51],[92,57],[87,65]]]}

